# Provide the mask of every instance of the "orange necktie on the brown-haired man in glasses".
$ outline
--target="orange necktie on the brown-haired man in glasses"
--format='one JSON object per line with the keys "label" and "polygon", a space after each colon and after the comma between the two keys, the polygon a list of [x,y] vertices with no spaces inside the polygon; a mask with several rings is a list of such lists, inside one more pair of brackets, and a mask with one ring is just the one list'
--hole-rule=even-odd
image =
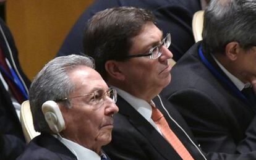
{"label": "orange necktie on the brown-haired man in glasses", "polygon": [[173,146],[174,150],[177,152],[177,154],[179,154],[179,156],[181,156],[182,159],[194,159],[190,155],[189,151],[187,151],[186,147],[181,143],[179,138],[177,138],[173,130],[171,130],[163,114],[155,106],[152,106],[151,119],[155,122],[166,140],[171,146]]}

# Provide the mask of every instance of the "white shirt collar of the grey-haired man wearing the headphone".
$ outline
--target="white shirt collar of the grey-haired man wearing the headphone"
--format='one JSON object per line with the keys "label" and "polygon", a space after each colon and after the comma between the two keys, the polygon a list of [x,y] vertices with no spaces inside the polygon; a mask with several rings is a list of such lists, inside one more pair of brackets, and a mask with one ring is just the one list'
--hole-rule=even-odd
{"label": "white shirt collar of the grey-haired man wearing the headphone", "polygon": [[78,143],[75,143],[74,141],[67,140],[66,138],[63,138],[58,135],[53,135],[53,137],[57,138],[59,141],[61,141],[61,143],[63,143],[67,148],[69,148],[69,150],[77,157],[78,160],[82,160],[82,159],[100,160],[101,159],[97,153],[79,145]]}

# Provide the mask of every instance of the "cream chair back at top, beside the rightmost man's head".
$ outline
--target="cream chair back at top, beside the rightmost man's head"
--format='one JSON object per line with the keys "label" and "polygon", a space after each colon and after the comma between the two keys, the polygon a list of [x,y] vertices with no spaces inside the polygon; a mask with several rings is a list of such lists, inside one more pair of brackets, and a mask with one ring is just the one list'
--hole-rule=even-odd
{"label": "cream chair back at top, beside the rightmost man's head", "polygon": [[193,15],[192,19],[192,31],[194,35],[195,42],[203,40],[202,32],[203,32],[203,14],[204,11],[197,11]]}

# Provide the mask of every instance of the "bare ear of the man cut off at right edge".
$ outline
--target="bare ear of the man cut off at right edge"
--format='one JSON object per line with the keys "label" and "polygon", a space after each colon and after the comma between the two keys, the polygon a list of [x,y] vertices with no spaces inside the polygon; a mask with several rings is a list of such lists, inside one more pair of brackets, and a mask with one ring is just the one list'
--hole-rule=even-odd
{"label": "bare ear of the man cut off at right edge", "polygon": [[231,61],[235,61],[237,59],[240,51],[241,47],[236,41],[228,43],[225,48],[225,54]]}

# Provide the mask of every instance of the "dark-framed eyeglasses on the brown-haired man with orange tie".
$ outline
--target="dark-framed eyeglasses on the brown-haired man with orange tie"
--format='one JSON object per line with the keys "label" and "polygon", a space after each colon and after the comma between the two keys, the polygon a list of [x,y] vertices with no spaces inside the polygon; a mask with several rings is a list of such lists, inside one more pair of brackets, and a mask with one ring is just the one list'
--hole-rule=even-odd
{"label": "dark-framed eyeglasses on the brown-haired man with orange tie", "polygon": [[148,54],[135,54],[135,55],[128,55],[126,58],[134,58],[134,57],[145,57],[150,56],[150,59],[158,59],[162,55],[161,48],[164,46],[166,48],[169,48],[171,45],[171,34],[167,33],[166,37],[161,40],[161,43],[157,46],[150,49],[150,52]]}

